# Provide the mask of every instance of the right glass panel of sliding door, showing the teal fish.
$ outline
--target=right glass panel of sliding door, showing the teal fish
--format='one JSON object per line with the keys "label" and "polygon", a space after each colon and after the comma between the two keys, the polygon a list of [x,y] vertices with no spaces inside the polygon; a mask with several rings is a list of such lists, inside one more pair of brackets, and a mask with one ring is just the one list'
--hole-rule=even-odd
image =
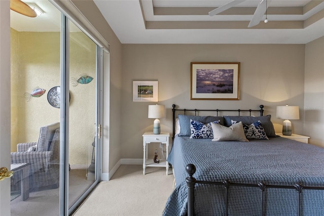
{"label": "right glass panel of sliding door, showing the teal fish", "polygon": [[97,180],[97,45],[69,22],[69,208]]}

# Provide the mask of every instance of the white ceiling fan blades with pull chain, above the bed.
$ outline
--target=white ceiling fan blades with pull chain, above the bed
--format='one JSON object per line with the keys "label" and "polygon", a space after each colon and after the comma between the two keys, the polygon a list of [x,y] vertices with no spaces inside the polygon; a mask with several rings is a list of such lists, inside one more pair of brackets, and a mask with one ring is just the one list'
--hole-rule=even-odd
{"label": "white ceiling fan blades with pull chain, above the bed", "polygon": [[[230,9],[232,7],[234,7],[235,5],[238,5],[242,2],[245,2],[246,0],[233,0],[221,7],[218,7],[212,11],[210,11],[208,14],[210,16],[214,16],[216,14],[219,14],[223,11],[226,11],[227,9]],[[268,3],[270,3],[271,0],[261,0],[260,3],[258,4],[257,6],[257,9],[255,10],[254,14],[253,14],[253,17],[248,25],[248,27],[252,27],[252,26],[255,26],[257,24],[259,24],[259,22],[261,21],[264,13],[267,11],[267,8],[268,8]],[[267,19],[266,19],[267,20]],[[267,21],[266,21],[267,22]]]}

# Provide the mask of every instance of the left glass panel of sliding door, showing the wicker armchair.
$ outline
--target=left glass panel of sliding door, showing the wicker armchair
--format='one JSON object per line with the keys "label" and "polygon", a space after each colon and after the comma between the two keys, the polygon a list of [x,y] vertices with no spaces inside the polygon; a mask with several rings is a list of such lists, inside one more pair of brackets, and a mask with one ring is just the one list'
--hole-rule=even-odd
{"label": "left glass panel of sliding door, showing the wicker armchair", "polygon": [[61,12],[48,1],[37,5],[51,13],[10,12],[11,215],[59,213]]}

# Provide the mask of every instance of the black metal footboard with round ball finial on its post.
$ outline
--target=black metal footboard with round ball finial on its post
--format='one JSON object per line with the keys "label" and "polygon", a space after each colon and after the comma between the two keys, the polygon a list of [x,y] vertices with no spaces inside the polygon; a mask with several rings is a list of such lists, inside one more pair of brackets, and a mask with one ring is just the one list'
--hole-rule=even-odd
{"label": "black metal footboard with round ball finial on its post", "polygon": [[225,180],[224,182],[207,182],[207,181],[198,181],[193,177],[193,174],[196,171],[196,167],[193,164],[188,164],[186,166],[186,171],[189,174],[189,177],[186,178],[187,188],[188,188],[188,215],[194,215],[194,186],[195,184],[209,184],[209,185],[223,185],[225,189],[225,212],[224,215],[228,215],[228,190],[229,186],[236,187],[255,187],[260,188],[260,205],[261,205],[261,212],[260,215],[265,215],[265,203],[264,203],[264,193],[266,192],[266,188],[280,188],[280,189],[296,189],[297,191],[297,215],[301,215],[300,206],[301,200],[300,196],[303,190],[324,190],[324,187],[309,187],[303,186],[301,184],[296,184],[294,186],[282,186],[282,185],[266,185],[263,182],[259,184],[241,184],[241,183],[233,183]]}

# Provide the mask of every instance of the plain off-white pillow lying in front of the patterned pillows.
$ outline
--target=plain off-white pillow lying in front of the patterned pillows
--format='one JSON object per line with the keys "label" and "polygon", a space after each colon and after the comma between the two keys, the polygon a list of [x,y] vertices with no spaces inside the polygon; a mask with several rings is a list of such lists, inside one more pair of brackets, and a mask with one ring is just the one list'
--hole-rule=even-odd
{"label": "plain off-white pillow lying in front of the patterned pillows", "polygon": [[229,127],[213,122],[211,122],[211,124],[214,134],[212,141],[249,141],[245,137],[242,122],[238,122]]}

